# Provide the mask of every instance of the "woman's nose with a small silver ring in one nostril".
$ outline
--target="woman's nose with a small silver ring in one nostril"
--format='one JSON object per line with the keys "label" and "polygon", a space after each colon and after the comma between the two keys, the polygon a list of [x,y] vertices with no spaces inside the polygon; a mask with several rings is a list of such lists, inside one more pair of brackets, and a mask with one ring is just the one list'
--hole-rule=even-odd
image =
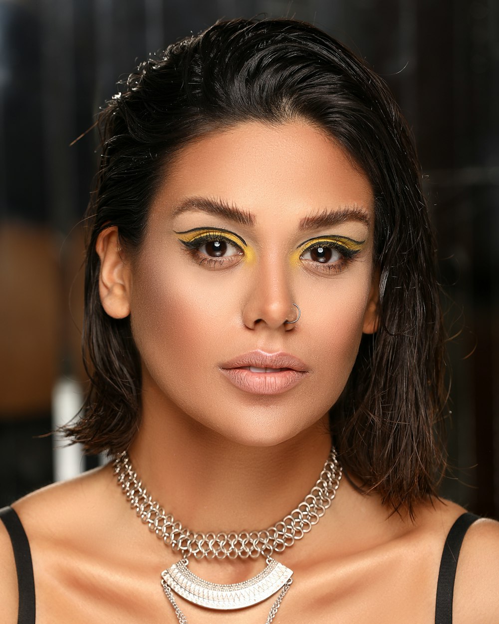
{"label": "woman's nose with a small silver ring in one nostril", "polygon": [[297,313],[286,267],[275,259],[262,260],[254,273],[243,308],[246,327],[255,329],[258,325],[265,325],[269,329],[278,329],[283,326],[289,331],[296,324],[286,321],[294,321]]}

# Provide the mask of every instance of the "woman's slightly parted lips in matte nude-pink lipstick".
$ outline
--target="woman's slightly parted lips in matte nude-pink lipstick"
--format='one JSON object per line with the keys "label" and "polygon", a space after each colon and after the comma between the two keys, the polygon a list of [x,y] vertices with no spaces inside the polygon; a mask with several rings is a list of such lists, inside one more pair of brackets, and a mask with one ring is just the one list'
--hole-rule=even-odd
{"label": "woman's slightly parted lips in matte nude-pink lipstick", "polygon": [[[254,373],[245,368],[249,366],[281,370]],[[301,359],[289,353],[264,351],[251,351],[231,359],[222,364],[220,371],[236,388],[251,394],[281,394],[299,384],[308,372]]]}

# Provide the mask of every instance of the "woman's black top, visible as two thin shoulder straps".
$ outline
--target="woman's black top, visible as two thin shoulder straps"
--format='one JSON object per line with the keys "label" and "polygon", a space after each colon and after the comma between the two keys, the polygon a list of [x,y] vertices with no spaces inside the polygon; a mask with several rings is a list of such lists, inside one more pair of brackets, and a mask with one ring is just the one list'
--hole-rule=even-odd
{"label": "woman's black top, visible as two thin shoulder straps", "polygon": [[[35,624],[35,584],[31,551],[21,520],[12,507],[0,509],[0,519],[6,526],[12,541],[19,587],[19,615],[17,624]],[[443,546],[442,560],[437,583],[435,624],[452,624],[452,596],[457,558],[463,538],[477,515],[463,514],[454,522]]]}

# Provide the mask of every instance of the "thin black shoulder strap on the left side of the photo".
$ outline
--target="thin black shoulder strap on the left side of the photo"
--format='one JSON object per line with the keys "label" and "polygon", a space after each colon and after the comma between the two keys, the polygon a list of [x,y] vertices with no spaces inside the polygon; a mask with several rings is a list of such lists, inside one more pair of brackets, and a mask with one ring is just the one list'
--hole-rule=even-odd
{"label": "thin black shoulder strap on the left side of the photo", "polygon": [[31,550],[21,520],[12,509],[0,509],[0,520],[4,523],[11,538],[12,550],[17,569],[17,587],[19,587],[19,611],[17,624],[35,624],[35,582]]}

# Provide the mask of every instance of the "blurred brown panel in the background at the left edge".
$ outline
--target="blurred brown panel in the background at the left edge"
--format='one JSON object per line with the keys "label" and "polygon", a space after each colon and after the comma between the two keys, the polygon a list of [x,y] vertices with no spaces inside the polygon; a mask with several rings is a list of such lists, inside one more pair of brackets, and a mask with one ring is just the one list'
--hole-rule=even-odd
{"label": "blurred brown panel in the background at the left edge", "polygon": [[0,415],[50,411],[62,351],[59,242],[47,229],[0,226]]}

